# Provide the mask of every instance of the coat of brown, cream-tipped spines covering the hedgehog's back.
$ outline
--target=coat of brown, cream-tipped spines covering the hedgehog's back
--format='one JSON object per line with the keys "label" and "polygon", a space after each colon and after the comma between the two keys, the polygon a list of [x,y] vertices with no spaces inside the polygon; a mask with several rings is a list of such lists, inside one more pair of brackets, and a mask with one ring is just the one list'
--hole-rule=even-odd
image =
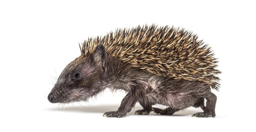
{"label": "coat of brown, cream-tipped spines covering the hedgehog's back", "polygon": [[103,38],[89,39],[83,43],[81,54],[91,53],[103,44],[110,56],[119,57],[132,67],[156,75],[175,79],[203,81],[218,89],[219,74],[216,59],[207,45],[197,36],[183,29],[155,25],[116,30]]}

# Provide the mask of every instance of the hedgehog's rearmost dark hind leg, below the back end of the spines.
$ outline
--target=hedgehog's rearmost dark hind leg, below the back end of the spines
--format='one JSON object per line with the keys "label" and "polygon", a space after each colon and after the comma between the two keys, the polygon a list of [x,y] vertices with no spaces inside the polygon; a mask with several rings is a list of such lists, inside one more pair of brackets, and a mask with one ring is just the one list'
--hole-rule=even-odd
{"label": "hedgehog's rearmost dark hind leg, below the back end of the spines", "polygon": [[215,117],[215,105],[217,101],[217,96],[214,95],[212,92],[209,92],[204,96],[206,98],[206,108],[203,112],[198,112],[196,114],[193,114],[192,117]]}

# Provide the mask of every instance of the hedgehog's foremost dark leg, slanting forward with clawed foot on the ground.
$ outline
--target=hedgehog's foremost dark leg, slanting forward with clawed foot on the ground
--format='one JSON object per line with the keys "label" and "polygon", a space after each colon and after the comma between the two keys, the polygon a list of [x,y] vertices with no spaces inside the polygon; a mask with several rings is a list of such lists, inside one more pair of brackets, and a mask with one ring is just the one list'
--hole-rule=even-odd
{"label": "hedgehog's foremost dark leg, slanting forward with clawed foot on the ground", "polygon": [[135,103],[137,102],[136,94],[132,92],[128,92],[128,94],[122,99],[120,107],[117,111],[106,112],[103,114],[105,117],[124,117],[128,112],[131,111],[132,107],[134,107]]}

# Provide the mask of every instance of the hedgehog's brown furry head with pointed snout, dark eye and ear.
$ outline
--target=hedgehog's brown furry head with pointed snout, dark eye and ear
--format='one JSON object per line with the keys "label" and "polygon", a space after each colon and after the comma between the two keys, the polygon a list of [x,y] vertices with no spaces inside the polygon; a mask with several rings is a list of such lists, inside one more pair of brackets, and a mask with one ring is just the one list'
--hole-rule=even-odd
{"label": "hedgehog's brown furry head with pointed snout, dark eye and ear", "polygon": [[51,103],[68,103],[87,100],[100,92],[95,89],[106,71],[107,54],[103,45],[93,53],[81,55],[69,63],[60,74],[57,83],[48,95]]}

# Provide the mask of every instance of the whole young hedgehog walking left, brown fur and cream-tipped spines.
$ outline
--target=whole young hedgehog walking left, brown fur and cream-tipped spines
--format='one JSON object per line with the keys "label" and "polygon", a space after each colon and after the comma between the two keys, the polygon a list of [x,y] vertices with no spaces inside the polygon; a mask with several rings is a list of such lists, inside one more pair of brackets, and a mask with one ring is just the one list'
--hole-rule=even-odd
{"label": "whole young hedgehog walking left, brown fur and cream-tipped spines", "polygon": [[[221,73],[211,49],[197,36],[174,27],[138,26],[89,38],[81,56],[69,63],[48,96],[51,103],[86,101],[107,87],[127,95],[117,111],[106,117],[124,117],[136,102],[151,111],[172,115],[187,107],[201,107],[193,117],[215,117]],[[207,103],[204,107],[204,98]],[[152,105],[168,106],[166,109]]]}

